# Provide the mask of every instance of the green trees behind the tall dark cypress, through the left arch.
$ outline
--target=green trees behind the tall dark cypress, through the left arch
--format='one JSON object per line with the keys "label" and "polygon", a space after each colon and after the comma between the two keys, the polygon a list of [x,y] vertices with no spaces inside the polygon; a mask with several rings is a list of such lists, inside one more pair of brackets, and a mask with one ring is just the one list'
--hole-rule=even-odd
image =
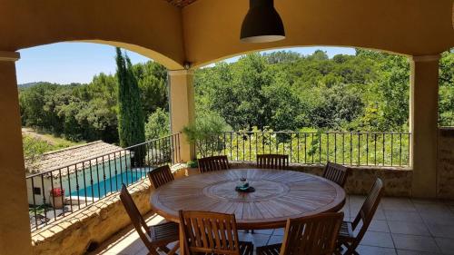
{"label": "green trees behind the tall dark cypress, through the left arch", "polygon": [[[166,70],[148,62],[133,65],[143,116],[168,111]],[[118,143],[118,80],[116,74],[97,74],[88,84],[36,83],[20,88],[22,124],[72,141]]]}

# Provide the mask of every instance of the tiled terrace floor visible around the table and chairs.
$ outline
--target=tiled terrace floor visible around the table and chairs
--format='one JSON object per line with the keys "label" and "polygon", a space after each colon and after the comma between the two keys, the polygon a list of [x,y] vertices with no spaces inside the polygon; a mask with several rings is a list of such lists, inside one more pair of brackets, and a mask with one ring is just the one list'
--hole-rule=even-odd
{"label": "tiled terrace floor visible around the table and chairs", "polygon": [[[363,197],[350,196],[343,209],[351,221],[360,210]],[[148,223],[163,219],[150,215]],[[241,240],[255,246],[281,242],[283,230],[256,230],[240,233]],[[369,231],[361,241],[360,254],[454,254],[454,201],[425,201],[384,198]],[[123,230],[92,254],[147,254],[137,233]]]}

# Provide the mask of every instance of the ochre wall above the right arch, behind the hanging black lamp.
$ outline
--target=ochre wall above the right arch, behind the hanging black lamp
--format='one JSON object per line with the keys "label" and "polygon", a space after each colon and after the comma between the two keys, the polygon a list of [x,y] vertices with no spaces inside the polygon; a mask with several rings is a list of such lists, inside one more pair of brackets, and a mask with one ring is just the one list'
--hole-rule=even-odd
{"label": "ochre wall above the right arch, behind the hanging black lamp", "polygon": [[183,9],[188,61],[207,64],[267,48],[340,45],[400,54],[439,54],[454,46],[452,0],[276,0],[287,39],[240,42],[246,0],[198,0]]}

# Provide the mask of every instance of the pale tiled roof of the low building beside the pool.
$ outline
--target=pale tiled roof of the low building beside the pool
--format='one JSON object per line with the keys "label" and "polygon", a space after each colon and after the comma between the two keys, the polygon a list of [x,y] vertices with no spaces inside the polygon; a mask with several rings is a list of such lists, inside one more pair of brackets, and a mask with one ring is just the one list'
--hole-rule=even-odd
{"label": "pale tiled roof of the low building beside the pool", "polygon": [[[106,162],[129,153],[122,147],[103,141],[89,142],[76,145],[54,152],[44,153],[42,159],[35,163],[34,172],[48,172],[62,169],[61,174],[74,172],[75,169],[83,169]],[[84,162],[84,163],[83,163]],[[58,175],[60,172],[53,172]]]}

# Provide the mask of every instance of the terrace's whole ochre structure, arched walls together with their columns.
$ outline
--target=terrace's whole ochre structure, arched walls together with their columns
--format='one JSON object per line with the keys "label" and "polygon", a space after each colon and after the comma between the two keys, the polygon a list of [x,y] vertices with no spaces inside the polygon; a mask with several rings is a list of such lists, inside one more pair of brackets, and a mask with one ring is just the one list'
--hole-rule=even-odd
{"label": "terrace's whole ochre structure, arched walls together with their columns", "polygon": [[[439,142],[452,134],[438,128],[439,54],[454,46],[452,0],[276,0],[286,38],[266,44],[239,40],[248,4],[246,0],[0,0],[0,193],[4,194],[0,254],[33,253],[15,76],[17,51],[58,42],[111,44],[164,64],[169,70],[173,133],[194,122],[192,70],[203,65],[253,51],[306,45],[406,55],[411,64],[410,196],[454,198],[454,143]],[[194,151],[184,139],[181,142],[181,160],[186,162]],[[440,154],[448,162],[443,169]]]}

